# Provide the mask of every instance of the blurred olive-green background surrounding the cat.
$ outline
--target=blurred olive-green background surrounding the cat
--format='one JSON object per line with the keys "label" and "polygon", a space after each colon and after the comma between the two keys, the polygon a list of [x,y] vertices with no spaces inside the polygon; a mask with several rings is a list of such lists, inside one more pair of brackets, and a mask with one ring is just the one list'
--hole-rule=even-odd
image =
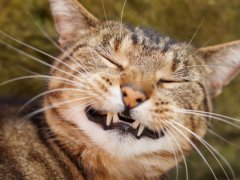
{"label": "blurred olive-green background surrounding the cat", "polygon": [[[108,19],[119,20],[123,0],[103,0]],[[102,0],[82,0],[96,17],[104,20]],[[29,14],[30,12],[30,14]],[[31,17],[33,16],[33,18]],[[34,20],[33,20],[34,19]],[[151,27],[173,39],[188,42],[203,21],[192,44],[201,47],[240,39],[240,1],[239,0],[127,0],[123,22]],[[49,3],[47,0],[1,0],[0,30],[15,38],[33,45],[46,53],[56,56],[59,51],[43,35],[36,24],[57,40]],[[0,40],[14,45],[32,56],[51,62],[50,58],[15,43],[0,35]],[[240,53],[240,52],[239,52]],[[30,75],[30,71],[47,74],[49,68],[18,54],[0,43],[0,82]],[[240,119],[240,76],[224,89],[216,99],[215,111]],[[27,79],[0,87],[0,97],[32,97],[44,90],[41,79]],[[1,102],[0,102],[1,103]],[[240,130],[215,122],[211,130],[226,138],[229,143],[209,133],[210,142],[233,167],[240,179]],[[221,166],[206,150],[201,148],[206,159],[219,179],[226,179]],[[197,153],[188,157],[190,179],[213,179],[211,171]],[[222,163],[227,170],[227,166]],[[184,165],[179,166],[180,178],[185,179]],[[229,172],[227,170],[227,172]],[[173,171],[174,177],[175,172]],[[232,179],[232,178],[230,178]]]}

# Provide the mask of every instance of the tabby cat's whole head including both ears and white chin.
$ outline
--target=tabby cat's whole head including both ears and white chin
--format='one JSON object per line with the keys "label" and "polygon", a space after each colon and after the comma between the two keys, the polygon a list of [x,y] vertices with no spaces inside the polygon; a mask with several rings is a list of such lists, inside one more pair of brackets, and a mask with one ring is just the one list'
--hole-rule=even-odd
{"label": "tabby cat's whole head including both ears and white chin", "polygon": [[240,42],[197,49],[99,21],[76,0],[51,0],[51,7],[64,49],[51,70],[54,93],[45,97],[55,106],[46,111],[52,129],[113,157],[162,153],[175,164],[175,155],[190,151],[207,130],[201,112],[211,111],[240,68]]}

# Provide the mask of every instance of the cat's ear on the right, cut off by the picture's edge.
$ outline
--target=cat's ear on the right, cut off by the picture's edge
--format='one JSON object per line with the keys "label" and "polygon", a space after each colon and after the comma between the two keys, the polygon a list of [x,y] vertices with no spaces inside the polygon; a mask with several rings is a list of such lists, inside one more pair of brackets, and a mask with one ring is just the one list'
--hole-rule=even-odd
{"label": "cat's ear on the right, cut off by the picture's edge", "polygon": [[201,48],[199,52],[212,70],[208,79],[215,97],[240,72],[240,40]]}

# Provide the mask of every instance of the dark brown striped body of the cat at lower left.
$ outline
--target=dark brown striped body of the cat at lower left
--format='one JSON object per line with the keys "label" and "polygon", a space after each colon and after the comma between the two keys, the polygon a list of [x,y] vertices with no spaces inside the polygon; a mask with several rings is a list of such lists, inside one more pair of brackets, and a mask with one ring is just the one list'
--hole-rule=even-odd
{"label": "dark brown striped body of the cat at lower left", "polygon": [[32,111],[18,113],[25,100],[0,102],[0,179],[81,179],[76,166],[49,141],[44,117],[24,119]]}

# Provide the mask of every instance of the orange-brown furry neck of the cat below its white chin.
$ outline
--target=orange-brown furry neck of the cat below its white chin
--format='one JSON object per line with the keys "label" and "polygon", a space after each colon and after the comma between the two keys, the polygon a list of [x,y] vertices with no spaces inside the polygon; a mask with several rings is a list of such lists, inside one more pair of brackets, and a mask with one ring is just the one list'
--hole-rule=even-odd
{"label": "orange-brown furry neck of the cat below its white chin", "polygon": [[[74,162],[86,179],[148,178],[149,173],[146,173],[148,168],[136,165],[134,157],[131,159],[114,157],[91,142],[76,125],[56,118],[56,114],[46,113],[46,120],[52,133],[49,141]],[[158,175],[156,179],[159,179]]]}

